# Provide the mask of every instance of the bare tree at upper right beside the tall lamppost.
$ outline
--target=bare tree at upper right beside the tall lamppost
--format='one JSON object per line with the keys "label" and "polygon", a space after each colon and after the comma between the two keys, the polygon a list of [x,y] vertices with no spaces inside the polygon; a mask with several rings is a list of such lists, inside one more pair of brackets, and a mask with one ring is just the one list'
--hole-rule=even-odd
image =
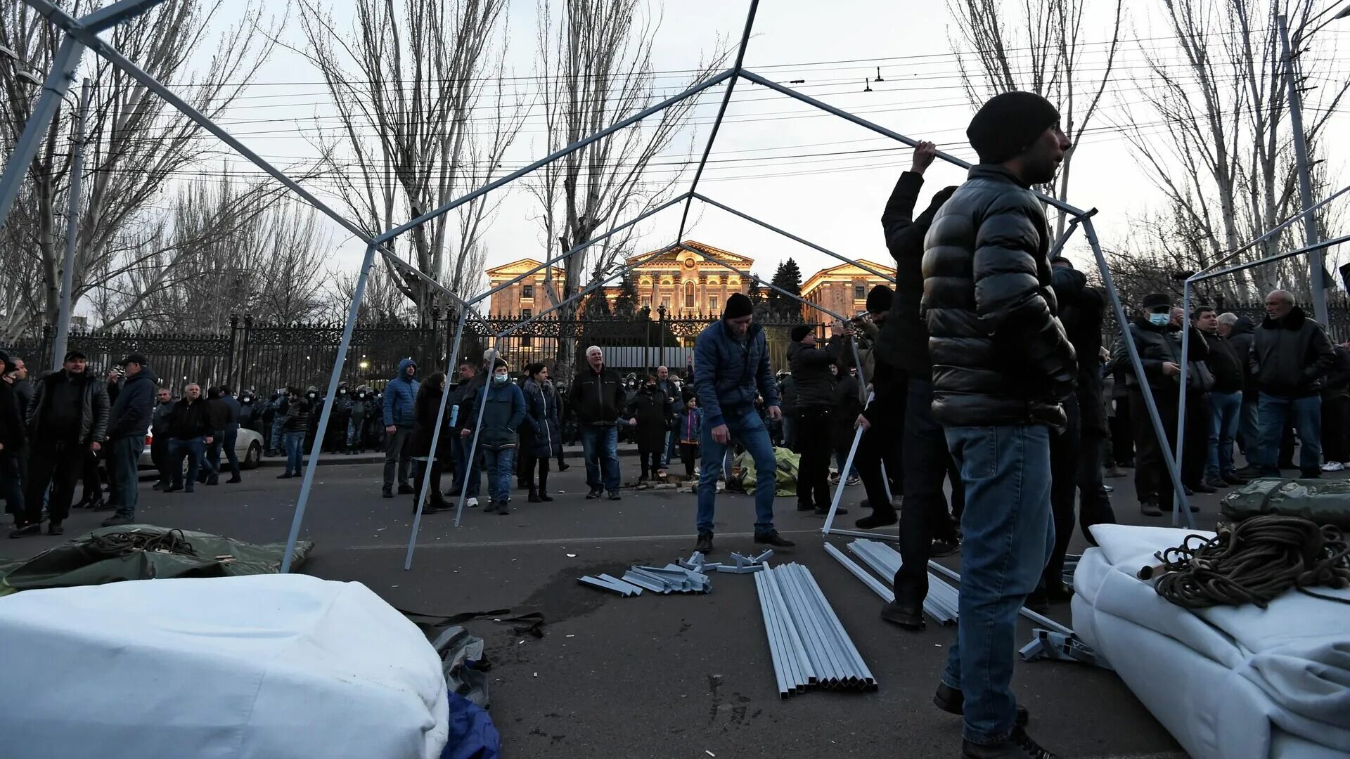
{"label": "bare tree at upper right beside the tall lamppost", "polygon": [[[1145,47],[1146,81],[1137,82],[1145,105],[1123,107],[1120,124],[1135,157],[1162,192],[1173,226],[1195,231],[1196,267],[1215,262],[1299,211],[1297,174],[1289,139],[1287,80],[1276,15],[1287,14],[1295,50],[1310,31],[1312,3],[1304,0],[1173,0],[1165,5],[1165,46]],[[1330,38],[1319,55],[1300,55],[1308,151],[1350,88],[1350,77],[1328,72]],[[1330,54],[1328,54],[1330,53]],[[1324,166],[1314,172],[1320,194]],[[1330,217],[1319,215],[1326,228]],[[1256,246],[1243,259],[1281,250],[1296,235]],[[1284,286],[1308,293],[1305,262],[1264,266],[1234,276],[1227,294],[1251,300]]]}

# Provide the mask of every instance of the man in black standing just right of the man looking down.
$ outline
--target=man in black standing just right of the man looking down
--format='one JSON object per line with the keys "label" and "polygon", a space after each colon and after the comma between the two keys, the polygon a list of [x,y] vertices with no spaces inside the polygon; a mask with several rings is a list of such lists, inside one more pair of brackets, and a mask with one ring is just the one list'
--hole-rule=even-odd
{"label": "man in black standing just right of the man looking down", "polygon": [[[830,509],[830,452],[834,451],[834,373],[842,340],[838,325],[825,350],[815,347],[815,327],[792,327],[787,361],[796,380],[798,452],[796,511],[825,516]],[[760,469],[756,465],[756,471]]]}

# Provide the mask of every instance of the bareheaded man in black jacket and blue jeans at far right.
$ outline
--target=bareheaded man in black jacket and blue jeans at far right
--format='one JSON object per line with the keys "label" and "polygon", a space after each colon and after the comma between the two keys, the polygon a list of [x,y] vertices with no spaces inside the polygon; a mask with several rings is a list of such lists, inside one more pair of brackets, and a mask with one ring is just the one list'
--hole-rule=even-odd
{"label": "bareheaded man in black jacket and blue jeans at far right", "polygon": [[1261,388],[1261,444],[1254,462],[1264,477],[1278,477],[1276,458],[1285,419],[1299,431],[1299,470],[1322,475],[1322,377],[1335,363],[1326,328],[1293,304],[1293,296],[1266,296],[1266,317],[1247,355]]}

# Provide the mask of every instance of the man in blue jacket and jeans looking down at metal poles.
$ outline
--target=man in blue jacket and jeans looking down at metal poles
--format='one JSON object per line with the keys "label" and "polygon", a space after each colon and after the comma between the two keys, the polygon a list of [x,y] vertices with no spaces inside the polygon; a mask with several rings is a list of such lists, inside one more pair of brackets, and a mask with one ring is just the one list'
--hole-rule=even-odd
{"label": "man in blue jacket and jeans looking down at metal poles", "polygon": [[699,434],[702,463],[698,479],[698,543],[695,551],[713,551],[713,509],[717,478],[732,435],[755,459],[755,542],[768,546],[795,546],[774,529],[774,496],[778,488],[778,461],[768,429],[755,411],[755,397],[763,396],[770,419],[782,419],[778,384],[768,366],[764,328],[753,324],[751,298],[736,293],[726,298],[722,317],[699,332],[694,342],[694,384],[703,407]]}

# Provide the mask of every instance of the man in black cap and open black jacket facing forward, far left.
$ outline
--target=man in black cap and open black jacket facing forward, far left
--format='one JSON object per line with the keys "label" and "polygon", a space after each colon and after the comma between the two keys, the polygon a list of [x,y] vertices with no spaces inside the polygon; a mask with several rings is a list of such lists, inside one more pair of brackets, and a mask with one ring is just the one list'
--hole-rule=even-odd
{"label": "man in black cap and open black jacket facing forward, far left", "polygon": [[27,424],[32,435],[32,454],[23,498],[24,513],[9,538],[36,535],[42,529],[42,496],[49,485],[47,535],[62,535],[65,528],[61,524],[70,516],[70,500],[84,462],[99,454],[108,429],[108,385],[88,374],[82,352],[69,351],[61,371],[38,381]]}

